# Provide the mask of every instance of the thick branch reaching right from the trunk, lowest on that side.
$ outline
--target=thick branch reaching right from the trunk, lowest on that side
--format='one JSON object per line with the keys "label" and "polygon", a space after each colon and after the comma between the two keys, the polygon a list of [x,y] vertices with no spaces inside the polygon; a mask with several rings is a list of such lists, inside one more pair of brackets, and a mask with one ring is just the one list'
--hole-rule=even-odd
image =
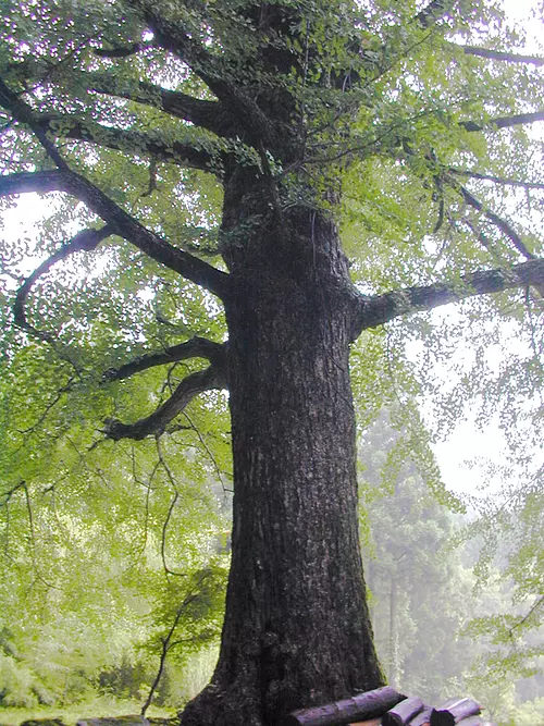
{"label": "thick branch reaching right from the trunk, lowest on that side", "polygon": [[544,259],[522,262],[510,268],[479,270],[455,282],[405,287],[384,295],[355,300],[353,340],[363,330],[378,328],[395,318],[432,310],[441,305],[457,303],[477,295],[500,293],[516,287],[544,285]]}

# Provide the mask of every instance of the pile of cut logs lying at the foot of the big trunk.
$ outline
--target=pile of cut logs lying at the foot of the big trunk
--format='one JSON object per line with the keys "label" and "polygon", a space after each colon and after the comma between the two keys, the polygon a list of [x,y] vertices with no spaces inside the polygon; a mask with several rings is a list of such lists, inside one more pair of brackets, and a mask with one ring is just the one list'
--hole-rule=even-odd
{"label": "pile of cut logs lying at the foot of the big trunk", "polygon": [[350,699],[295,711],[280,726],[495,726],[470,698],[437,707],[386,686]]}

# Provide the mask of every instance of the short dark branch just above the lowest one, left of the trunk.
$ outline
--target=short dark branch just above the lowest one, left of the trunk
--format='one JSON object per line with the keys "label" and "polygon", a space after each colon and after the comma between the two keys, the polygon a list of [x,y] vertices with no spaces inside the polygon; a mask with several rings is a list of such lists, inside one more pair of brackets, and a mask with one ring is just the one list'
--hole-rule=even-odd
{"label": "short dark branch just above the lowest one, left of the trunk", "polygon": [[214,343],[206,337],[195,335],[190,341],[172,345],[160,353],[151,353],[140,356],[131,362],[121,366],[121,368],[111,368],[103,374],[104,381],[122,381],[135,373],[140,373],[154,366],[172,364],[176,360],[186,360],[187,358],[206,358],[218,366],[225,365],[225,346],[221,343]]}

